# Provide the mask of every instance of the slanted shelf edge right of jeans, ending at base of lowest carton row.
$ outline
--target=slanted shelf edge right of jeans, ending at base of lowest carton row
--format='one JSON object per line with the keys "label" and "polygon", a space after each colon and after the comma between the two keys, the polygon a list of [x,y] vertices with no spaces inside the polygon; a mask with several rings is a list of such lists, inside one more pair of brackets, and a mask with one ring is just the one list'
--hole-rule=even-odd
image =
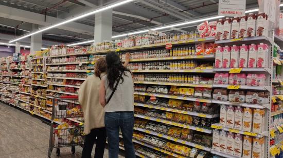
{"label": "slanted shelf edge right of jeans, ending at base of lowest carton row", "polygon": [[167,140],[178,142],[178,143],[181,143],[181,144],[185,144],[185,145],[188,145],[188,146],[191,146],[191,147],[194,147],[194,148],[198,148],[198,149],[201,149],[201,150],[205,150],[205,151],[211,150],[211,148],[203,146],[203,145],[199,145],[199,144],[192,143],[192,142],[189,142],[189,141],[184,141],[184,140],[177,139],[175,137],[172,137],[172,136],[169,136],[169,135],[166,135],[166,134],[157,133],[157,132],[150,131],[150,130],[147,130],[147,129],[134,127],[134,130],[145,132],[145,133],[148,133],[148,134],[152,134],[152,135],[155,135],[155,136],[158,136],[158,137],[163,137]]}

